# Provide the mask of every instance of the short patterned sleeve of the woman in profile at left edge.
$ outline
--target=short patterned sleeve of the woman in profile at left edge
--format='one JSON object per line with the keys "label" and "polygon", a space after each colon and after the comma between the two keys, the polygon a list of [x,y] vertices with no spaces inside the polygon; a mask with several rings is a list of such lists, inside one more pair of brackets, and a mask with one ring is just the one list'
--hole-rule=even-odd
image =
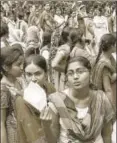
{"label": "short patterned sleeve of the woman in profile at left edge", "polygon": [[4,90],[1,90],[1,109],[9,107],[9,96]]}

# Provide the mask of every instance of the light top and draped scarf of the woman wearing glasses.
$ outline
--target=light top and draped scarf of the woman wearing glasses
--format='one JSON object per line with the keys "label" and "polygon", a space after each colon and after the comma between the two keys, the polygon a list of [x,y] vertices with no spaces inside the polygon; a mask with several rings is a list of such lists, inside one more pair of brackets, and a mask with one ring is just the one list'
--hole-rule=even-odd
{"label": "light top and draped scarf of the woman wearing glasses", "polygon": [[49,102],[54,106],[50,107],[51,127],[53,135],[58,132],[57,143],[103,143],[97,138],[101,136],[104,124],[115,118],[115,113],[102,91],[90,90],[90,96],[89,109],[82,120],[77,117],[75,104],[66,93],[56,92],[49,96]]}

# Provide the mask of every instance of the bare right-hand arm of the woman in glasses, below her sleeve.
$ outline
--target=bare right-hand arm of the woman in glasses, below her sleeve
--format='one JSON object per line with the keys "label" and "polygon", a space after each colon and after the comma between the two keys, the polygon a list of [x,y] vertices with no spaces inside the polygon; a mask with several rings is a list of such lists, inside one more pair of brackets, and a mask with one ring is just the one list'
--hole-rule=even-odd
{"label": "bare right-hand arm of the woman in glasses, below her sleeve", "polygon": [[102,129],[102,138],[104,143],[112,143],[111,134],[112,134],[112,121],[106,123]]}

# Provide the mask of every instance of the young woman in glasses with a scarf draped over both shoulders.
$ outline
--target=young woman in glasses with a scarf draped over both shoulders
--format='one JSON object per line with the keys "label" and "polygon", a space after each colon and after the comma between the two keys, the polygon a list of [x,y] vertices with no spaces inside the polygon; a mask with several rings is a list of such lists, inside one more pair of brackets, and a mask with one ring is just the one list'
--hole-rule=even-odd
{"label": "young woman in glasses with a scarf draped over both shoulders", "polygon": [[49,96],[49,108],[41,118],[52,119],[55,143],[111,143],[115,114],[104,92],[91,88],[90,74],[86,58],[70,59],[66,68],[68,88]]}

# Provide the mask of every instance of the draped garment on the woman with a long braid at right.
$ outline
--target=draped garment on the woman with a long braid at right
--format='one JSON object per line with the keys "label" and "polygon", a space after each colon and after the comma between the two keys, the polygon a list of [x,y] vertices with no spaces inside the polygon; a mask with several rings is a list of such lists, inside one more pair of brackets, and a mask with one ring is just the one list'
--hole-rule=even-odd
{"label": "draped garment on the woman with a long braid at right", "polygon": [[[92,83],[100,90],[104,91],[104,86],[103,86],[103,74],[107,75],[110,79],[111,82],[111,77],[112,74],[116,73],[116,63],[115,59],[111,56],[110,60],[105,60],[103,59],[103,56],[101,56],[100,60],[98,63],[94,66],[92,69],[92,74],[91,74],[91,80]],[[116,82],[111,84],[112,85],[112,90],[113,90],[113,102],[115,104],[115,86]]]}

